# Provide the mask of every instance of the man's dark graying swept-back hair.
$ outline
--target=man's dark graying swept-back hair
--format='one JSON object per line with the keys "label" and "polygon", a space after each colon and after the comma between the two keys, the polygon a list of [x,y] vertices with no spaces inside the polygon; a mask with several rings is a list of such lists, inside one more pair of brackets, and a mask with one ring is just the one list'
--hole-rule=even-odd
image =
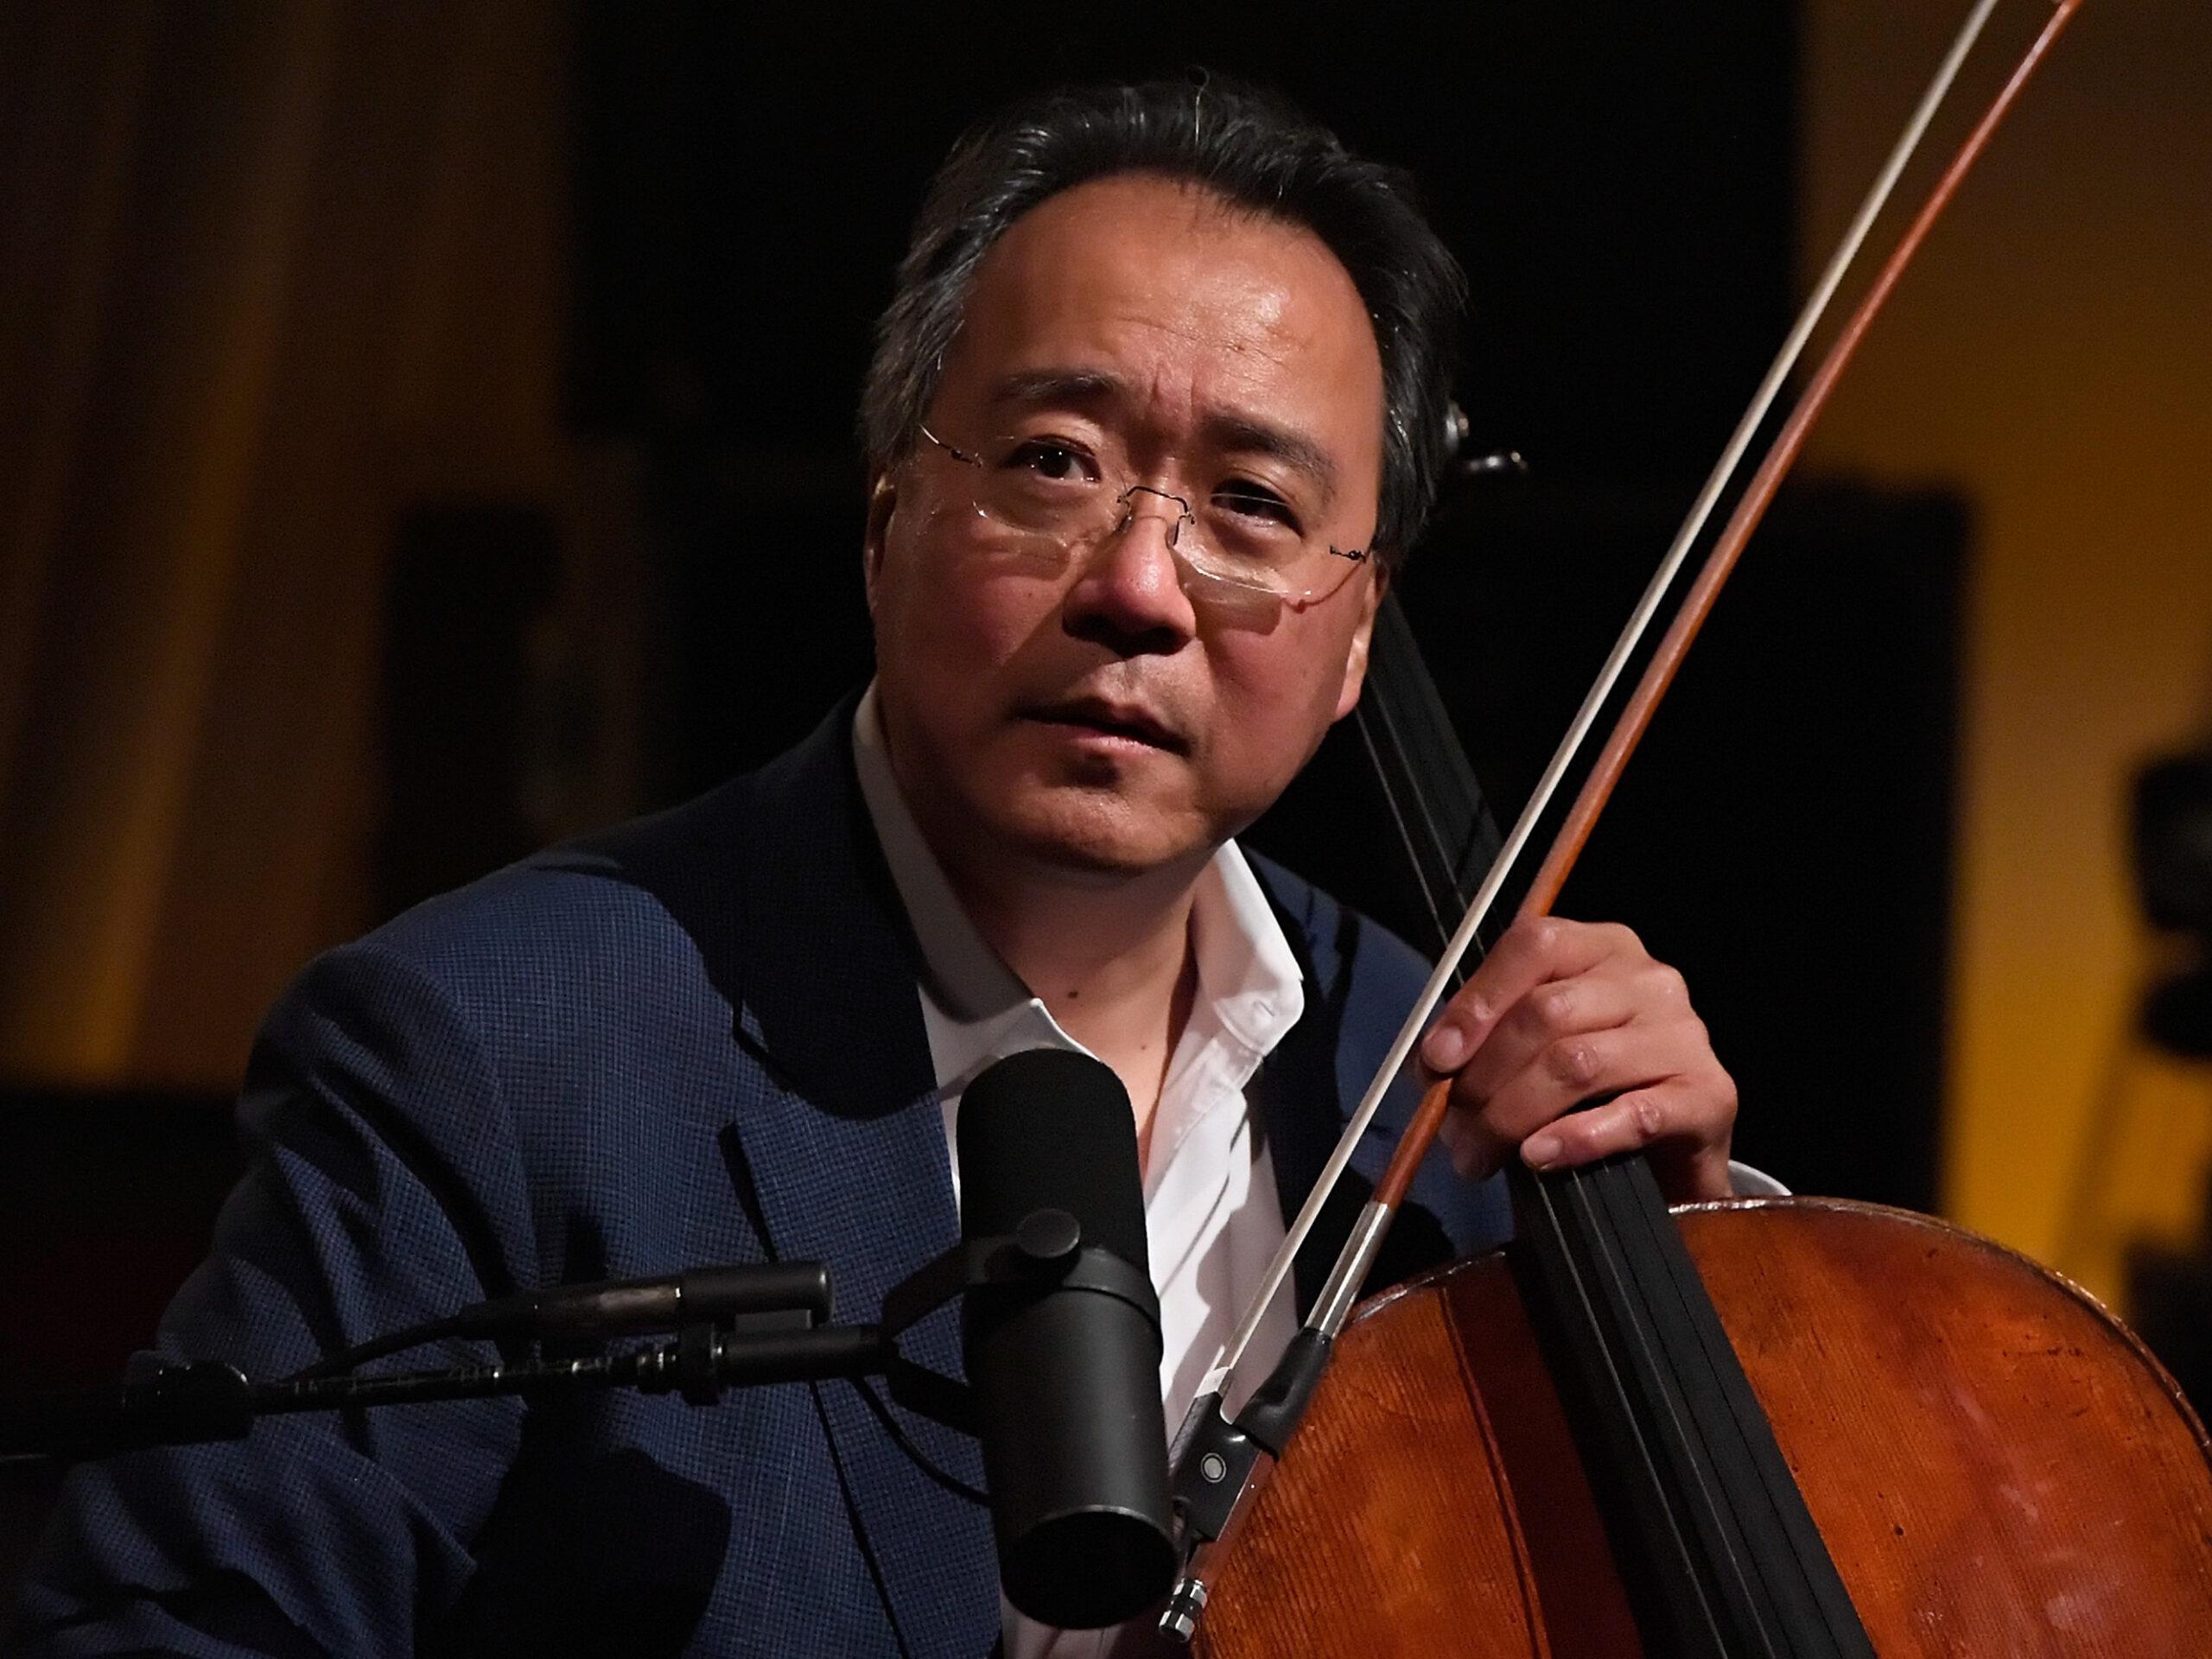
{"label": "man's dark graying swept-back hair", "polygon": [[1024,212],[1088,179],[1157,173],[1312,230],[1352,274],[1383,356],[1376,549],[1420,535],[1449,462],[1451,361],[1467,279],[1413,181],[1363,161],[1283,100],[1223,80],[1046,93],[973,128],[938,168],[876,323],[860,394],[872,471],[914,445],[975,268]]}

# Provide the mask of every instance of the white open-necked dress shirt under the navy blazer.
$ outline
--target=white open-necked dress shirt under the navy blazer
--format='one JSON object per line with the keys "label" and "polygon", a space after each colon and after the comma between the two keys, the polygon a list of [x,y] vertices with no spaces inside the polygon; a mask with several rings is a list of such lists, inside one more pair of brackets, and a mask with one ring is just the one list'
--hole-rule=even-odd
{"label": "white open-necked dress shirt under the navy blazer", "polygon": [[[953,1148],[960,1093],[989,1064],[1024,1048],[1088,1051],[1029,993],[953,896],[898,792],[874,686],[854,714],[852,750],[876,841],[922,951],[922,1024],[945,1104],[945,1139]],[[1159,1091],[1144,1168],[1144,1230],[1159,1290],[1159,1394],[1170,1436],[1285,1237],[1274,1164],[1245,1084],[1305,1011],[1298,960],[1234,841],[1199,876],[1190,947],[1199,987]],[[951,1166],[958,1201],[958,1152]],[[1730,1170],[1739,1192],[1783,1190],[1756,1170]],[[1245,1389],[1267,1376],[1296,1327],[1285,1281],[1239,1367]],[[1228,1402],[1232,1411],[1239,1405]],[[1009,1659],[1093,1659],[1115,1639],[1113,1630],[1051,1630],[1011,1606],[1004,1619]]]}

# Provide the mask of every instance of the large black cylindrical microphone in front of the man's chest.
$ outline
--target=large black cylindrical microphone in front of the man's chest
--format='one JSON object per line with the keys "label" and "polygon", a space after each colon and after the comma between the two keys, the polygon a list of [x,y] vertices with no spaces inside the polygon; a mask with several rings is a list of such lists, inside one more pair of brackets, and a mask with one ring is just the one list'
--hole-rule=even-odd
{"label": "large black cylindrical microphone in front of the man's chest", "polygon": [[1128,1091],[1088,1055],[1031,1048],[967,1086],[958,1146],[962,1239],[1068,1263],[1055,1283],[975,1285],[962,1310],[1000,1584],[1042,1624],[1133,1619],[1175,1582],[1175,1544]]}

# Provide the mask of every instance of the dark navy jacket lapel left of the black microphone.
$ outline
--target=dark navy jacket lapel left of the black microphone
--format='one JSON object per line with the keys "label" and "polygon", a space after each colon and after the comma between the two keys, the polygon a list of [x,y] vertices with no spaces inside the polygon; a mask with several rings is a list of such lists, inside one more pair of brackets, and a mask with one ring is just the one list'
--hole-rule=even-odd
{"label": "dark navy jacket lapel left of the black microphone", "polygon": [[[916,951],[849,732],[852,701],[752,779],[734,1035],[768,1082],[730,1126],[741,1201],[779,1259],[830,1263],[841,1323],[874,1321],[891,1285],[960,1237]],[[958,1310],[905,1349],[958,1376]],[[880,1380],[863,1387],[821,1383],[814,1398],[900,1644],[982,1655],[998,1635],[991,1517],[947,1482],[980,1489],[980,1449],[891,1405]]]}

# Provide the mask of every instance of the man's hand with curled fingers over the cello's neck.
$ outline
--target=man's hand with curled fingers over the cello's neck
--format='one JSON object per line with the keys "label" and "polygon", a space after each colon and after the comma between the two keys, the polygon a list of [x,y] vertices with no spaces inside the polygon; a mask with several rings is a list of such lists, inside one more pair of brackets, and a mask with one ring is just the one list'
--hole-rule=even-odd
{"label": "man's hand with curled fingers over the cello's neck", "polygon": [[[1451,1075],[1440,1130],[1462,1175],[1517,1146],[1537,1170],[1650,1148],[1677,1201],[1725,1199],[1736,1084],[1681,973],[1610,922],[1515,922],[1444,1004],[1420,1062]],[[1586,1099],[1604,1099],[1577,1113]]]}

